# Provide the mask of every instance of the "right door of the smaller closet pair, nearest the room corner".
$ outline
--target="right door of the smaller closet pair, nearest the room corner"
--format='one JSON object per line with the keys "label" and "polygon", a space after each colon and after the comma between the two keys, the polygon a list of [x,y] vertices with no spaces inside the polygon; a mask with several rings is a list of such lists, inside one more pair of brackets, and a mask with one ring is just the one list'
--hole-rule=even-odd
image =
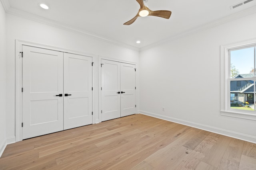
{"label": "right door of the smaller closet pair, nearest the room corner", "polygon": [[120,63],[121,117],[136,113],[135,65]]}

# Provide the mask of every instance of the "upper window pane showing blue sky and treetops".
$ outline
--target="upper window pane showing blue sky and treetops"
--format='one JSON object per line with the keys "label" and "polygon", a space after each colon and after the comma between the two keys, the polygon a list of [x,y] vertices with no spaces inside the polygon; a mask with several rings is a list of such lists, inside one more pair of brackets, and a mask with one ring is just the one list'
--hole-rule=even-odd
{"label": "upper window pane showing blue sky and treetops", "polygon": [[254,47],[230,51],[231,78],[254,76]]}

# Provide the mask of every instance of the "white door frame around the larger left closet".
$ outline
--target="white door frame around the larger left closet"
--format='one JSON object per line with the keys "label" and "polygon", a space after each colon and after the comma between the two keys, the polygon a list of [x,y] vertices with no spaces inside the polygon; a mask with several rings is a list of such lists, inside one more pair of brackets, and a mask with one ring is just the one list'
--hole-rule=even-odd
{"label": "white door frame around the larger left closet", "polygon": [[[33,43],[30,41],[23,41],[16,39],[15,40],[15,139],[12,139],[12,142],[18,142],[22,141],[22,45],[27,45],[27,46],[32,46],[32,47],[38,47],[42,49],[49,49],[49,50],[54,50],[54,51],[60,51],[63,53],[72,53],[76,55],[83,55],[87,57],[92,57],[92,62],[94,63],[92,67],[92,88],[95,90],[92,90],[92,111],[93,113],[97,113],[97,108],[95,106],[96,103],[98,103],[98,95],[97,95],[97,80],[98,77],[98,69],[96,69],[96,66],[98,65],[98,60],[96,55],[92,54],[86,54],[86,53],[81,53],[78,51],[72,51],[69,49],[63,49],[60,47],[53,47],[50,45],[44,45],[40,43]],[[98,118],[97,114],[93,114],[92,116],[92,123],[98,123]]]}

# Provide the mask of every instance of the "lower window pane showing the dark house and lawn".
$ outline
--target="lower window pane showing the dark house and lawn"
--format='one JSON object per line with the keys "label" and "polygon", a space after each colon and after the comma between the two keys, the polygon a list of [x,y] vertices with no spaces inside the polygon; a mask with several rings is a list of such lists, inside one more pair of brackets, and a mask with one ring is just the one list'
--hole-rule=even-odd
{"label": "lower window pane showing the dark house and lawn", "polygon": [[254,111],[254,80],[230,81],[230,108]]}

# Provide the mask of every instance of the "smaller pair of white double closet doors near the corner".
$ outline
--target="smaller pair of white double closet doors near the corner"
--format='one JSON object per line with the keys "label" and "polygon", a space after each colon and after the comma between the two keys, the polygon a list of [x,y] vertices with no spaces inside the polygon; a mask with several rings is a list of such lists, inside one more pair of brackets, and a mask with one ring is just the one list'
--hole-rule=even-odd
{"label": "smaller pair of white double closet doors near the corner", "polygon": [[135,65],[101,60],[102,121],[136,113]]}

